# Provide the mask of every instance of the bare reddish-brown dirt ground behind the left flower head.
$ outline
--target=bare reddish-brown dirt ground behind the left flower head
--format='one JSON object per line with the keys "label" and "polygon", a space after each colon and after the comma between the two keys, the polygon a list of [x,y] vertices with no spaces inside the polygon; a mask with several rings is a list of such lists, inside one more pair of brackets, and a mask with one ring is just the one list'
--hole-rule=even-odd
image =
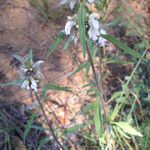
{"label": "bare reddish-brown dirt ground behind the left flower head", "polygon": [[[4,4],[3,4],[4,5]],[[2,7],[2,6],[1,6]],[[26,55],[31,48],[34,60],[44,60],[42,72],[44,83],[60,84],[71,88],[73,93],[48,92],[45,109],[50,120],[57,124],[70,125],[71,120],[82,123],[82,117],[77,117],[84,101],[88,99],[86,91],[82,89],[85,81],[81,74],[68,78],[76,68],[70,53],[62,51],[61,46],[49,59],[47,50],[55,37],[62,30],[64,18],[56,23],[44,23],[42,15],[32,7],[27,0],[12,0],[0,10],[0,72],[1,82],[8,82],[18,78],[19,63],[13,58],[14,54]],[[52,17],[52,19],[54,19]],[[74,47],[78,51],[78,47]],[[79,50],[80,51],[80,50]],[[42,83],[42,84],[44,84]],[[31,106],[29,93],[17,87],[0,89],[1,99],[20,102]],[[35,105],[35,103],[33,103]],[[57,112],[55,111],[57,109]],[[50,115],[51,114],[51,115]],[[78,119],[76,119],[78,118]]]}

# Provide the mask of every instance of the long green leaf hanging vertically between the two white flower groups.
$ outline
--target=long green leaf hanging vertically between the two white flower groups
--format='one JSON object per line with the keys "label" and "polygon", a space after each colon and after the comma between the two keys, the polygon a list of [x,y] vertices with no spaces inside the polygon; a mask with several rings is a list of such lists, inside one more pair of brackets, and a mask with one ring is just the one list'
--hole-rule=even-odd
{"label": "long green leaf hanging vertically between the two white flower groups", "polygon": [[80,2],[78,11],[79,35],[82,45],[83,56],[86,56],[86,35],[85,35],[85,8],[83,2]]}

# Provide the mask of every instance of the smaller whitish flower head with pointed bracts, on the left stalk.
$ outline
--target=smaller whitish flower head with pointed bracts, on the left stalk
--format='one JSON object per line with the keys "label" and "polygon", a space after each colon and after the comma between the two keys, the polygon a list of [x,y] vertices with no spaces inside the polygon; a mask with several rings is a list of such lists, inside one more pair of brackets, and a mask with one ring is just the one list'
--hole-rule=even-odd
{"label": "smaller whitish flower head with pointed bracts, on the left stalk", "polygon": [[37,92],[38,84],[43,76],[40,72],[40,65],[43,61],[40,60],[33,63],[32,58],[29,59],[29,57],[24,58],[18,55],[14,55],[14,57],[21,62],[21,66],[18,71],[22,81],[21,87],[26,90],[33,90]]}

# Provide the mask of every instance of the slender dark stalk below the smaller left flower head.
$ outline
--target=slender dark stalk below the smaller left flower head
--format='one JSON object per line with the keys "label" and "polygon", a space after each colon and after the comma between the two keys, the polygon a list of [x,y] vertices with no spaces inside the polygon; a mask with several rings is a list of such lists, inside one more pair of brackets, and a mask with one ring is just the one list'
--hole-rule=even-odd
{"label": "slender dark stalk below the smaller left flower head", "polygon": [[40,108],[41,108],[42,113],[43,113],[43,115],[44,115],[44,118],[45,118],[45,120],[46,120],[46,122],[47,122],[47,124],[48,124],[48,126],[49,126],[49,129],[50,129],[50,131],[51,131],[51,133],[52,133],[53,138],[56,140],[56,142],[57,142],[58,145],[62,148],[62,150],[64,150],[63,146],[61,145],[61,143],[60,143],[59,140],[57,139],[57,137],[56,137],[56,135],[55,135],[55,133],[54,133],[54,131],[53,131],[53,128],[52,128],[50,122],[48,121],[47,115],[46,115],[46,113],[45,113],[45,111],[44,111],[43,105],[42,105],[42,103],[41,103],[41,100],[40,100],[38,94],[37,94],[36,92],[34,92],[34,94],[35,94],[35,97],[36,97],[36,99],[37,99],[37,101],[38,101],[38,103],[39,103],[39,105],[40,105]]}

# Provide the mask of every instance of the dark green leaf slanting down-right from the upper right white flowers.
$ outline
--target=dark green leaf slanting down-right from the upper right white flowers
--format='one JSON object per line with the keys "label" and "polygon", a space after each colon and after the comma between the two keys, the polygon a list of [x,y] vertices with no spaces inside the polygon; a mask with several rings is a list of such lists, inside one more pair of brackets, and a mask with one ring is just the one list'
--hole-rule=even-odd
{"label": "dark green leaf slanting down-right from the upper right white flowers", "polygon": [[102,35],[103,38],[107,39],[108,41],[112,42],[114,45],[116,45],[118,48],[122,49],[125,54],[132,55],[135,58],[141,58],[141,54],[137,51],[131,49],[130,47],[126,46],[124,43],[122,43],[120,40],[115,38],[111,35]]}

